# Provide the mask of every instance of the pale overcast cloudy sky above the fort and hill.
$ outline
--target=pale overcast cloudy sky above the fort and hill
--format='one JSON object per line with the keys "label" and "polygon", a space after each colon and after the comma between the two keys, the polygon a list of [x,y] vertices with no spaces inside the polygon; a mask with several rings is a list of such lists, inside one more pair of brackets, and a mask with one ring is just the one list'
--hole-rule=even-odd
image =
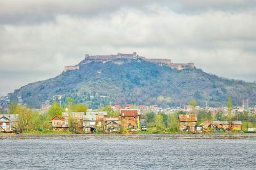
{"label": "pale overcast cloudy sky above the fort and hill", "polygon": [[0,95],[86,53],[137,52],[255,81],[255,30],[253,0],[0,0]]}

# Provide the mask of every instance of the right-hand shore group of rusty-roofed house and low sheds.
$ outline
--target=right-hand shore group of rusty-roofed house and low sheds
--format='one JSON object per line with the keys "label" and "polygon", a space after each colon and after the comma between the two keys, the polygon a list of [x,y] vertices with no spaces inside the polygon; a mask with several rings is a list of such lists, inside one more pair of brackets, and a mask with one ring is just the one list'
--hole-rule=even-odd
{"label": "right-hand shore group of rusty-roofed house and low sheds", "polygon": [[180,131],[189,131],[189,132],[207,132],[211,130],[242,130],[241,121],[205,121],[202,124],[197,125],[197,115],[196,114],[187,114],[179,115],[179,130]]}

